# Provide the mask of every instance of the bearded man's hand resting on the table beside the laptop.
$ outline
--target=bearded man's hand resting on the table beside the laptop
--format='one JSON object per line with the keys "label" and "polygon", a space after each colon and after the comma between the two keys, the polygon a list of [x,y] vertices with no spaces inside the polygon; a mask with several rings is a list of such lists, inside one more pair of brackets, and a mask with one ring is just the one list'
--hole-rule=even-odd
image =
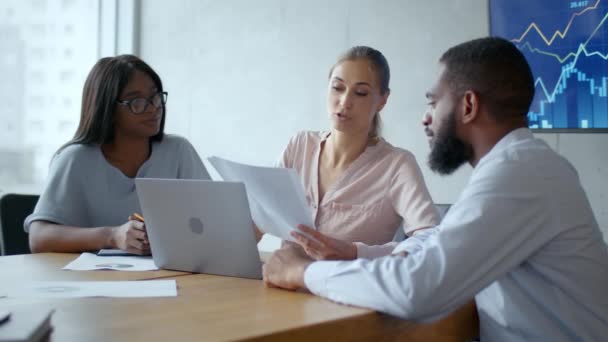
{"label": "bearded man's hand resting on the table beside the laptop", "polygon": [[264,264],[264,283],[286,290],[305,289],[304,272],[312,262],[301,248],[288,244],[274,252]]}

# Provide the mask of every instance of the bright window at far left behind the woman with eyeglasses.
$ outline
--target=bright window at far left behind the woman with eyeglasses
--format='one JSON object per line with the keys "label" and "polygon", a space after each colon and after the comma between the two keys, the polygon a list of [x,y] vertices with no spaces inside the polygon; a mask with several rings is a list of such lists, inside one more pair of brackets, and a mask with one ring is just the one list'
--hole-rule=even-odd
{"label": "bright window at far left behind the woman with eyeglasses", "polygon": [[0,103],[10,104],[0,106],[0,193],[40,193],[74,134],[99,57],[99,13],[90,0],[0,1]]}

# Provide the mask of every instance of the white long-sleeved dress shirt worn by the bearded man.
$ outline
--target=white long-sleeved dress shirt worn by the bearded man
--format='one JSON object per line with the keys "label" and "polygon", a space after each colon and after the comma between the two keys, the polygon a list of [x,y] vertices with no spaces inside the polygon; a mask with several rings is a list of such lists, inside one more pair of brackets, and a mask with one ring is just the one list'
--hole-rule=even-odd
{"label": "white long-sleeved dress shirt worn by the bearded man", "polygon": [[608,250],[575,169],[527,128],[484,156],[407,257],[320,261],[306,286],[331,300],[435,320],[475,298],[482,341],[606,341]]}

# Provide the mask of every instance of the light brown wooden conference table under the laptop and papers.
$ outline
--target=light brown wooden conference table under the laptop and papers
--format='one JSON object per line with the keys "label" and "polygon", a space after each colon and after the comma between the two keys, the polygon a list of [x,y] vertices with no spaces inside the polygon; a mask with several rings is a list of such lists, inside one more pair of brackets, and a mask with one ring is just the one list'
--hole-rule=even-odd
{"label": "light brown wooden conference table under the laptop and papers", "polygon": [[[3,287],[28,281],[175,279],[169,298],[0,298],[0,308],[54,308],[51,341],[466,341],[477,331],[468,304],[432,324],[414,324],[262,281],[176,271],[63,271],[78,254],[0,257]],[[264,257],[264,256],[263,256]]]}

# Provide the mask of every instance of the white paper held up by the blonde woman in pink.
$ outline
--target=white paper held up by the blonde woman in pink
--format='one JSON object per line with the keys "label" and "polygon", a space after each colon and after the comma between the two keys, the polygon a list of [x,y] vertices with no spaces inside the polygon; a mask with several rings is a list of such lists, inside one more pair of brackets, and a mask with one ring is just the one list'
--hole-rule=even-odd
{"label": "white paper held up by the blonde woman in pink", "polygon": [[315,228],[304,188],[294,169],[251,166],[219,157],[207,158],[225,181],[243,182],[251,216],[265,233],[284,240],[298,224]]}

